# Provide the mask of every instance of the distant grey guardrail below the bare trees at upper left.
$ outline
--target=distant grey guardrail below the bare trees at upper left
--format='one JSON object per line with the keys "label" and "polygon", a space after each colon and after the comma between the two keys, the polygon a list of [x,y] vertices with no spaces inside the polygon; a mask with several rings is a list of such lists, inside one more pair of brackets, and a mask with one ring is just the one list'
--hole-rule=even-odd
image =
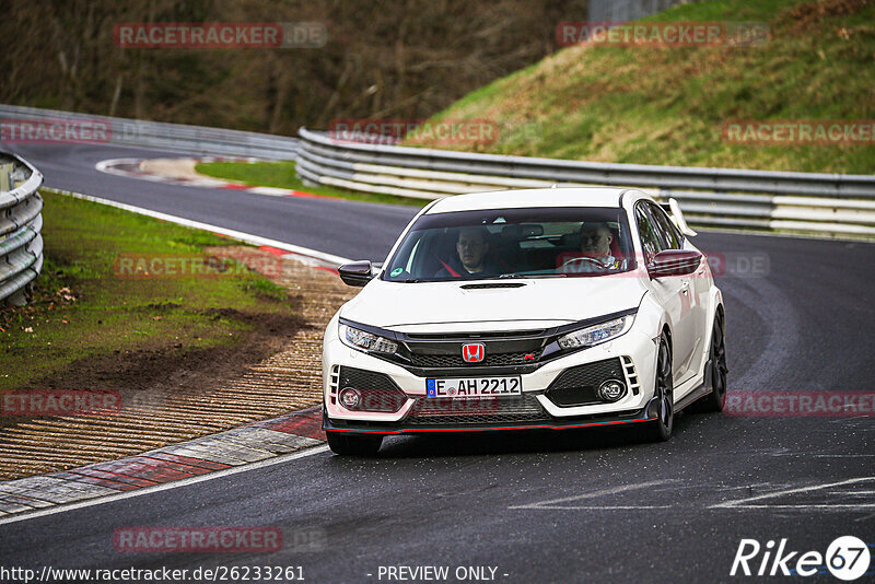
{"label": "distant grey guardrail below the bare trees at upper left", "polygon": [[[124,144],[183,152],[219,154],[225,156],[254,156],[259,159],[293,160],[298,156],[300,140],[284,136],[224,130],[203,126],[186,126],[183,124],[165,124],[162,121],[144,121],[108,116],[91,116],[73,112],[39,109],[15,105],[0,104],[0,124],[15,124],[21,133],[26,120],[42,124],[45,130],[52,122],[103,124],[106,128],[97,143]],[[62,128],[60,129],[62,131]],[[10,140],[10,128],[4,128],[4,139]],[[36,136],[36,132],[30,132]],[[24,137],[23,141],[27,141]],[[37,140],[38,141],[38,140]]]}

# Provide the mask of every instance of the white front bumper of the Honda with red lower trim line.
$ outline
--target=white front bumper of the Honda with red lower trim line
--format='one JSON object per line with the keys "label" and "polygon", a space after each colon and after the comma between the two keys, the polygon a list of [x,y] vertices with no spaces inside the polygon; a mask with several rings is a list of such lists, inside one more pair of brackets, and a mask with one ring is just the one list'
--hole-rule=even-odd
{"label": "white front bumper of the Honda with red lower trim line", "polygon": [[[645,327],[633,326],[623,336],[590,349],[555,359],[527,372],[511,371],[506,375],[518,375],[523,395],[520,398],[499,398],[493,401],[497,409],[491,412],[425,411],[434,404],[425,398],[425,379],[451,377],[431,371],[424,376],[398,364],[353,350],[342,342],[336,334],[337,324],[332,320],[326,330],[323,352],[324,379],[324,428],[329,432],[366,432],[375,434],[416,434],[429,432],[465,432],[483,430],[561,430],[593,425],[621,425],[643,422],[655,418],[651,399],[656,364],[656,343],[645,334]],[[628,390],[616,402],[586,402],[559,405],[555,388],[563,373],[582,366],[596,366],[598,363],[615,360],[620,363],[622,381]],[[340,388],[340,373],[343,370],[373,372],[390,379],[398,406],[384,411],[351,411],[343,408],[337,399]],[[455,370],[454,370],[455,373]],[[490,375],[500,375],[493,370]],[[471,376],[477,376],[471,371]],[[354,385],[354,384],[353,384]],[[514,402],[516,401],[516,402]],[[456,400],[459,402],[459,400]],[[480,408],[478,400],[468,405]],[[482,409],[482,408],[480,408]],[[428,419],[432,413],[433,418]],[[451,413],[451,416],[447,416]],[[494,413],[492,416],[491,413]]]}

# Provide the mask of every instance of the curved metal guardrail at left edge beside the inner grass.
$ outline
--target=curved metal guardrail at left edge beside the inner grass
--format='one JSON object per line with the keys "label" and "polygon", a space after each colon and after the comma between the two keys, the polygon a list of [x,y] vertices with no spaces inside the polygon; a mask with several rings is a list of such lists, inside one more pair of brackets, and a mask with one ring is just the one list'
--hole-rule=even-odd
{"label": "curved metal guardrail at left edge beside the inner grass", "polygon": [[23,306],[43,268],[42,184],[28,162],[0,153],[0,303]]}

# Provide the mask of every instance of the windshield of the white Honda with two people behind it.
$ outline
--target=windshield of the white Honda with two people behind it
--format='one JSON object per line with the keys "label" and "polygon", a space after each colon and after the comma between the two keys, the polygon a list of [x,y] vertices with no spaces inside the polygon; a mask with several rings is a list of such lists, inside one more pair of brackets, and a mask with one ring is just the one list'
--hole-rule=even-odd
{"label": "windshield of the white Honda with two people behind it", "polygon": [[382,279],[570,278],[632,269],[632,240],[622,209],[490,209],[422,215]]}

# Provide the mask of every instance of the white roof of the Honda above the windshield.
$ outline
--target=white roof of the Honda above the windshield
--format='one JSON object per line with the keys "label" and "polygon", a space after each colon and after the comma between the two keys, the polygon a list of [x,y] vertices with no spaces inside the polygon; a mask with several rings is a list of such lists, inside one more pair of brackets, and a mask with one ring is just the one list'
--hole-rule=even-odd
{"label": "white roof of the Honda above the windshield", "polygon": [[444,197],[427,214],[479,211],[486,209],[521,209],[526,207],[612,207],[620,208],[620,195],[643,192],[622,187],[567,187],[494,190]]}

